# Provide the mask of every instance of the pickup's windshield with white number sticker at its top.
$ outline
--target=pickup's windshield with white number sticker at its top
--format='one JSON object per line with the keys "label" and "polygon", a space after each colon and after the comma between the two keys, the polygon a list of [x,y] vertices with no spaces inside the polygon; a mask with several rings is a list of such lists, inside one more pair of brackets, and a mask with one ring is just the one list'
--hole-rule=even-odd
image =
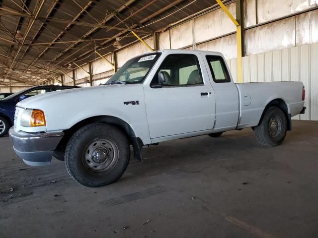
{"label": "pickup's windshield with white number sticker at its top", "polygon": [[128,60],[105,84],[142,83],[159,55],[160,53],[154,53]]}

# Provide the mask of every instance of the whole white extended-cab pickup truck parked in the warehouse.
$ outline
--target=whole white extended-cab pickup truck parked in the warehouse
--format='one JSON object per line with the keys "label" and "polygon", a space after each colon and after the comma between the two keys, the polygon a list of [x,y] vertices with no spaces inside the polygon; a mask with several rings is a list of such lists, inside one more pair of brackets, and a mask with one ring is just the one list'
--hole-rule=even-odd
{"label": "whole white extended-cab pickup truck parked in the warehouse", "polygon": [[97,187],[122,176],[130,145],[142,161],[152,144],[251,127],[261,145],[277,146],[304,100],[302,82],[234,83],[220,53],[163,50],[128,60],[105,85],[23,100],[9,134],[26,164],[54,156]]}

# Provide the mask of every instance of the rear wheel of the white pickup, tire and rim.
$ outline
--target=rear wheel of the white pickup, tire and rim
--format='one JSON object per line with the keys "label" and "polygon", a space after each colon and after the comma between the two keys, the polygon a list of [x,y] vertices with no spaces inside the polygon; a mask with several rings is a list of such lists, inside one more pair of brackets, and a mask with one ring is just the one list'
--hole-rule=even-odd
{"label": "rear wheel of the white pickup, tire and rim", "polygon": [[287,119],[284,112],[277,107],[268,108],[254,131],[257,141],[262,146],[280,145],[287,133]]}

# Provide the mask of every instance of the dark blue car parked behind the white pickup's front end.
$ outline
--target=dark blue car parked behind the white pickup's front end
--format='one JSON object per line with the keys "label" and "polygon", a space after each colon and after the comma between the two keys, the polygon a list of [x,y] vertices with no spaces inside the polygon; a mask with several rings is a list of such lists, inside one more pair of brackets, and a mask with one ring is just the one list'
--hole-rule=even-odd
{"label": "dark blue car parked behind the white pickup's front end", "polygon": [[14,93],[0,100],[0,137],[7,134],[9,128],[13,125],[15,105],[23,99],[53,91],[78,88],[75,86],[35,86],[20,92]]}

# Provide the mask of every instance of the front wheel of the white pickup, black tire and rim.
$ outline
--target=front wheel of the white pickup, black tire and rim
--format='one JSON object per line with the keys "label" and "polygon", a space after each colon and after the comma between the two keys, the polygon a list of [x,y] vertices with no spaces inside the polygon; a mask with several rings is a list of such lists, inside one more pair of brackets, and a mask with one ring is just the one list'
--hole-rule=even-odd
{"label": "front wheel of the white pickup, black tire and rim", "polygon": [[105,123],[92,123],[79,128],[65,150],[67,171],[74,180],[87,187],[115,182],[127,169],[129,158],[130,147],[126,135],[117,127]]}

